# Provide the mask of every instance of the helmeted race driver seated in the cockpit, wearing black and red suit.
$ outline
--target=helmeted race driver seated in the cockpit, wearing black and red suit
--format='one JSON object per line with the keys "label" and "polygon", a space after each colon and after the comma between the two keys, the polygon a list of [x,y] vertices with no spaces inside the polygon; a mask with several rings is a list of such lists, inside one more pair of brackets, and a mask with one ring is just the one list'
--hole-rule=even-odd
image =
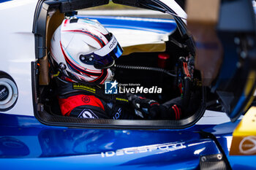
{"label": "helmeted race driver seated in the cockpit, wearing black and red suit", "polygon": [[95,119],[181,119],[180,98],[159,104],[134,94],[105,94],[115,60],[123,50],[99,22],[64,19],[51,39],[52,77],[61,115]]}

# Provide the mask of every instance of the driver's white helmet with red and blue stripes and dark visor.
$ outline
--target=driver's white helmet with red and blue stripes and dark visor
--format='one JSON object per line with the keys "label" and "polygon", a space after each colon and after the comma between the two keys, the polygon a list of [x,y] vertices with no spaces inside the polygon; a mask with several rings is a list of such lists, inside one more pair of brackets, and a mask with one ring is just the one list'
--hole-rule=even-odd
{"label": "driver's white helmet with red and blue stripes and dark visor", "polygon": [[115,36],[89,19],[63,20],[50,42],[51,62],[75,82],[101,85],[112,80],[109,68],[122,53]]}

